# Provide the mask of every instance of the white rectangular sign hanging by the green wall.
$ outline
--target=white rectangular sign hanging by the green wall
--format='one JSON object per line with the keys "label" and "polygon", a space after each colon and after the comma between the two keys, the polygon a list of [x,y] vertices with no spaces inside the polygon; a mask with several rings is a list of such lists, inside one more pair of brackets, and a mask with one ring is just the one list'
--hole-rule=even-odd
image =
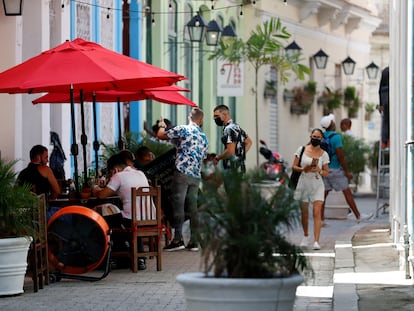
{"label": "white rectangular sign hanging by the green wall", "polygon": [[243,96],[243,64],[217,61],[217,96]]}

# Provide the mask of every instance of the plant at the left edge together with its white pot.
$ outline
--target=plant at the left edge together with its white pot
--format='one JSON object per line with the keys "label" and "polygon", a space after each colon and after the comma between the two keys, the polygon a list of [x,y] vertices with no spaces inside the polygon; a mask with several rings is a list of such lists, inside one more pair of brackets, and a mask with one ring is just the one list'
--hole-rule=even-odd
{"label": "plant at the left edge together with its white pot", "polygon": [[15,161],[0,159],[0,296],[23,292],[38,198],[16,184]]}

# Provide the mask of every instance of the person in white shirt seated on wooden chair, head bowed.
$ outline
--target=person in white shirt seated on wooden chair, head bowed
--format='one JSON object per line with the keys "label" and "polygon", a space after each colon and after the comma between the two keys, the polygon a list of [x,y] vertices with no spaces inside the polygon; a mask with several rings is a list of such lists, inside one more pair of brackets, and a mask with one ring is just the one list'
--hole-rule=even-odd
{"label": "person in white shirt seated on wooden chair, head bowed", "polygon": [[[115,154],[108,159],[107,169],[110,172],[110,179],[105,188],[101,189],[95,186],[93,192],[97,198],[106,198],[118,195],[122,201],[122,211],[119,217],[119,223],[111,221],[111,227],[130,227],[131,226],[131,188],[148,187],[149,183],[147,177],[143,172],[127,165],[122,154]],[[115,245],[121,243],[121,245]],[[124,246],[125,241],[114,241],[114,248]],[[142,240],[138,239],[138,249],[143,251]],[[145,259],[140,258],[138,262],[138,269],[144,270]]]}

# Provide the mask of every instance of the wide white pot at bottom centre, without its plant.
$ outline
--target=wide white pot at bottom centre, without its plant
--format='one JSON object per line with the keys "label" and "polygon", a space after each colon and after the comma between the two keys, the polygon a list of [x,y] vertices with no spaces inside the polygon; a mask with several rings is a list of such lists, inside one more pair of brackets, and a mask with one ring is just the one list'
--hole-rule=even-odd
{"label": "wide white pot at bottom centre, without its plant", "polygon": [[296,288],[303,276],[274,279],[230,279],[184,273],[177,281],[184,287],[188,311],[291,311]]}

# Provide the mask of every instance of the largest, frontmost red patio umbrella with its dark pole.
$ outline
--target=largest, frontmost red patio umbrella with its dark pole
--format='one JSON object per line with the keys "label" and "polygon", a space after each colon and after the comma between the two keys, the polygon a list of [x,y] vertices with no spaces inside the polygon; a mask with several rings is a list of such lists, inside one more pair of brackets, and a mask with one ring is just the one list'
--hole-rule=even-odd
{"label": "largest, frontmost red patio umbrella with its dark pole", "polygon": [[[182,75],[78,38],[71,42],[66,41],[1,72],[0,93],[68,92],[70,94],[73,136],[71,153],[74,156],[75,182],[77,183],[78,146],[73,90],[137,91],[171,85],[183,79],[185,77]],[[83,108],[82,105],[81,108]],[[83,131],[82,145],[84,148],[85,144],[86,136]]]}

